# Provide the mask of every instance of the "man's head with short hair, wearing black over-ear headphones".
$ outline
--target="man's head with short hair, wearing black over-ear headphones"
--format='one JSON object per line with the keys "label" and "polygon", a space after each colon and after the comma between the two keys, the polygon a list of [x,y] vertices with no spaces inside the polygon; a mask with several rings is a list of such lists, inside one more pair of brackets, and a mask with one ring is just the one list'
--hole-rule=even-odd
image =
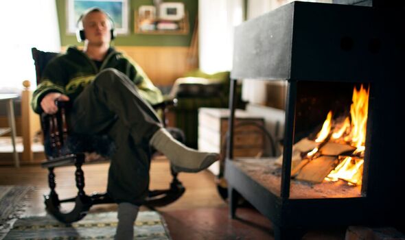
{"label": "man's head with short hair, wearing black over-ear headphones", "polygon": [[115,38],[113,21],[100,8],[86,10],[78,21],[78,41],[86,40],[88,44],[102,45]]}

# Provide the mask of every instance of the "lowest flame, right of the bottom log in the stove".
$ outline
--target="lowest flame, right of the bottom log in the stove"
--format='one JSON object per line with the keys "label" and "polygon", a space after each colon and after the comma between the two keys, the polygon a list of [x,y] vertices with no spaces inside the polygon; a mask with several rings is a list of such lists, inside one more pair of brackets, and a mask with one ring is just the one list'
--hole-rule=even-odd
{"label": "lowest flame, right of the bottom log in the stove", "polygon": [[[327,176],[327,180],[336,182],[338,179],[345,180],[351,184],[357,185],[361,183],[363,159],[354,159],[346,157],[334,170]],[[359,171],[361,169],[361,171]]]}

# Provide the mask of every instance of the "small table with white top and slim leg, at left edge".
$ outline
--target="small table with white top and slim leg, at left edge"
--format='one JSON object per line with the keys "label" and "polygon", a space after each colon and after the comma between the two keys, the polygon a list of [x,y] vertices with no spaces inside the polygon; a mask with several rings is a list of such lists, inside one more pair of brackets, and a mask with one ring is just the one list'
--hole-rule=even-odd
{"label": "small table with white top and slim leg, at left edge", "polygon": [[14,105],[12,103],[13,99],[18,98],[16,94],[0,94],[0,101],[7,102],[7,118],[8,118],[8,128],[0,128],[0,136],[11,132],[11,141],[13,149],[13,159],[16,167],[20,167],[19,154],[16,150],[16,122],[14,118]]}

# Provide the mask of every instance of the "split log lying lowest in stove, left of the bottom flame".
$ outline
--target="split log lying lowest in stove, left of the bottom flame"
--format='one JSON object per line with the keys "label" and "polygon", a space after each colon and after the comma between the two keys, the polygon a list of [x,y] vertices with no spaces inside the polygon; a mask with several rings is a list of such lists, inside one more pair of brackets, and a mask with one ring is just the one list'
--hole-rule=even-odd
{"label": "split log lying lowest in stove, left of the bottom flame", "polygon": [[296,179],[313,183],[321,183],[338,164],[334,156],[320,156],[310,160],[299,172]]}

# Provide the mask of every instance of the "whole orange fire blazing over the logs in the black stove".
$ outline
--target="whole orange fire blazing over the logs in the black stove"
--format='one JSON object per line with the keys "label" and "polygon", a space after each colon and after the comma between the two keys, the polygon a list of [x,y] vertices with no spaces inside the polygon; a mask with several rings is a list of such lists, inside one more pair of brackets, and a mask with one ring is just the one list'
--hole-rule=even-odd
{"label": "whole orange fire blazing over the logs in the black stove", "polygon": [[[354,87],[350,117],[343,122],[334,123],[332,111],[329,111],[322,129],[316,136],[316,143],[331,141],[345,143],[356,147],[351,156],[338,156],[342,161],[325,178],[327,181],[345,180],[351,185],[361,184],[362,164],[364,163],[364,149],[367,129],[367,114],[369,108],[369,90],[360,86],[360,90]],[[332,132],[332,134],[331,134]],[[330,135],[330,138],[329,138]],[[312,149],[307,156],[311,158],[318,148]]]}

